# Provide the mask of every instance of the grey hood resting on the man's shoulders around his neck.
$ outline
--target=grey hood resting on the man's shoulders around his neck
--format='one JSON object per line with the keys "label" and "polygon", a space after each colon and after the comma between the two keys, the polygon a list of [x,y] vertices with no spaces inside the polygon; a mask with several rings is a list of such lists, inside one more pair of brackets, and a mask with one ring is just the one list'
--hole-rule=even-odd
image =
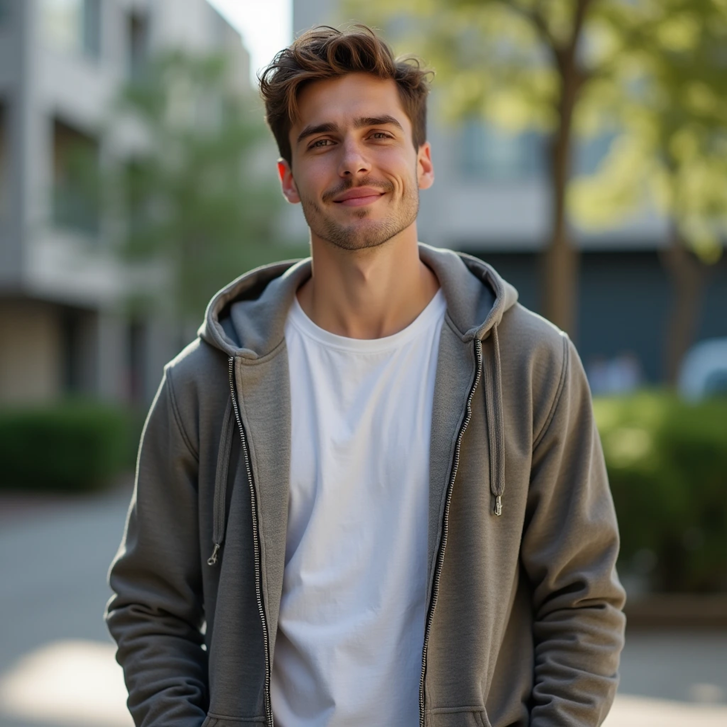
{"label": "grey hood resting on the man's shoulders around his neck", "polygon": [[[419,244],[419,257],[435,273],[447,315],[463,341],[484,340],[518,292],[486,262]],[[227,356],[267,356],[283,340],[296,290],[310,277],[310,258],[277,262],[245,273],[214,295],[199,336]]]}

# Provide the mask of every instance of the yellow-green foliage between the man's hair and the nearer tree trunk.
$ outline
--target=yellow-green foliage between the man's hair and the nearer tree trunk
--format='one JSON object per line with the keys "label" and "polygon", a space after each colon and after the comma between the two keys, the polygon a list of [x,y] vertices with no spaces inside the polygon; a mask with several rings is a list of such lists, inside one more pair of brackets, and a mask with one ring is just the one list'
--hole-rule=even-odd
{"label": "yellow-green foliage between the man's hair and the nearer tree trunk", "polygon": [[[567,35],[563,19],[572,4],[548,4],[553,33]],[[344,5],[365,23],[391,29],[398,49],[417,49],[434,68],[437,111],[446,121],[483,116],[510,132],[551,132],[557,126],[561,84],[531,22],[533,3],[344,0]]]}

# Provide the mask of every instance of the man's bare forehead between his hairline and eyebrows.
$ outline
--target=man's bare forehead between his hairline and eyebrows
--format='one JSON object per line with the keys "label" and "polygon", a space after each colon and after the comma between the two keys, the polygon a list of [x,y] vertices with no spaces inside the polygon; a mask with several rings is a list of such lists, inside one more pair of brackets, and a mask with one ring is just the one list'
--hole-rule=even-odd
{"label": "man's bare forehead between his hairline and eyebrows", "polygon": [[354,119],[387,114],[397,119],[403,129],[411,130],[392,79],[378,79],[370,73],[348,73],[337,79],[313,81],[298,95],[298,118],[291,129],[292,138],[309,124],[334,123],[345,127]]}

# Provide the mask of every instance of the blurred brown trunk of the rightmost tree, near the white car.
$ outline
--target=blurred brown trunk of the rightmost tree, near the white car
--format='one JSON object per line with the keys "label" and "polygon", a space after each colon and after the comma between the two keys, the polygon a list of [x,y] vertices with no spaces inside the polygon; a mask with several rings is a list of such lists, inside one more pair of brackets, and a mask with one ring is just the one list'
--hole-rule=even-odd
{"label": "blurred brown trunk of the rightmost tree, near the white car", "polygon": [[682,359],[699,327],[707,268],[686,249],[676,230],[670,246],[659,257],[672,281],[672,309],[664,334],[664,378],[670,388],[675,388]]}

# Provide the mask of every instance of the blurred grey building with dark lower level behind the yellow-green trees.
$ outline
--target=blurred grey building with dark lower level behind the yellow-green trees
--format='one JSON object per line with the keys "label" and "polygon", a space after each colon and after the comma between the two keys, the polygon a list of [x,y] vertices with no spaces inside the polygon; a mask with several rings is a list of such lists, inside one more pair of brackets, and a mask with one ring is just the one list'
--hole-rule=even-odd
{"label": "blurred grey building with dark lower level behind the yellow-green trees", "polygon": [[[361,8],[363,15],[366,5]],[[313,25],[355,20],[343,14],[341,0],[293,0],[296,35]],[[419,237],[490,262],[515,285],[523,305],[538,310],[539,252],[550,219],[545,140],[534,132],[507,134],[479,119],[451,126],[442,116],[435,84],[428,132],[436,181],[422,193]],[[577,170],[595,171],[610,142],[601,137],[579,145]],[[582,251],[576,333],[587,368],[598,373],[605,362],[620,370],[628,360],[646,382],[658,382],[672,305],[659,261],[668,244],[666,221],[645,210],[598,235],[577,230],[576,242]],[[702,310],[696,339],[727,336],[727,255],[712,270]]]}

